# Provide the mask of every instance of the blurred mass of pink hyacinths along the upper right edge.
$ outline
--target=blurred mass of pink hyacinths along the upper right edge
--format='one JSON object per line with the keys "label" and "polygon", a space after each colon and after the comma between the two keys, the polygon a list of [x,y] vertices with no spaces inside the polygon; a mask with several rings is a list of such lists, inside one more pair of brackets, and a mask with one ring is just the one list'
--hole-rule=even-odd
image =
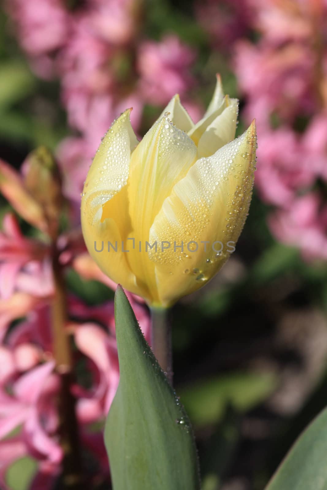
{"label": "blurred mass of pink hyacinths along the upper right edge", "polygon": [[326,260],[327,4],[247,0],[257,43],[234,46],[233,66],[246,96],[244,116],[258,123],[259,195],[276,207],[275,237],[302,256]]}

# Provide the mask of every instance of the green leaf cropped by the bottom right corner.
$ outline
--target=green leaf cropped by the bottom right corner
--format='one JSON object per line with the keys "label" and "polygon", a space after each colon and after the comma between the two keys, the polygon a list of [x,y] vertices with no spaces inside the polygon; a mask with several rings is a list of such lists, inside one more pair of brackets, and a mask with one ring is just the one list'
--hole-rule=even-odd
{"label": "green leaf cropped by the bottom right corner", "polygon": [[327,409],[305,429],[266,490],[327,489]]}

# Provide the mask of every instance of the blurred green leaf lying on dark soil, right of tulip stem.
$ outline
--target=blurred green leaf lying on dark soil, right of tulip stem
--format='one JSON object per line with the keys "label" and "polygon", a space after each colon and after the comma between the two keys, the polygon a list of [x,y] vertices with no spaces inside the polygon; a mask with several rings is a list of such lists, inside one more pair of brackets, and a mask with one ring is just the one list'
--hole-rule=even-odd
{"label": "blurred green leaf lying on dark soil, right of tulip stem", "polygon": [[262,402],[276,388],[270,373],[235,372],[185,388],[181,400],[197,426],[217,423],[228,405],[241,412]]}

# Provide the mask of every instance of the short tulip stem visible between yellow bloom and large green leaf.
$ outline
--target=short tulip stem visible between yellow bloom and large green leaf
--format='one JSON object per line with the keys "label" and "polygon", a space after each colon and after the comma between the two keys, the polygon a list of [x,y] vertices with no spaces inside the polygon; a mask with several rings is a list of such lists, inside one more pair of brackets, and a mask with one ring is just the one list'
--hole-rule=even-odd
{"label": "short tulip stem visible between yellow bloom and large green leaf", "polygon": [[173,384],[172,329],[166,308],[151,308],[151,348],[160,367]]}

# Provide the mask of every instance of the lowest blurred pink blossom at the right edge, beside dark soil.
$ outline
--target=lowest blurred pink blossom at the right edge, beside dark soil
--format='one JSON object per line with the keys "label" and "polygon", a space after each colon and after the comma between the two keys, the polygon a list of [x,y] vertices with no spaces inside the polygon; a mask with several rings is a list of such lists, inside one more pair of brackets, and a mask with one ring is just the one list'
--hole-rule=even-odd
{"label": "lowest blurred pink blossom at the right edge, beside dark soil", "polygon": [[327,205],[310,193],[295,199],[288,209],[278,210],[269,220],[280,240],[300,248],[307,260],[327,260]]}

